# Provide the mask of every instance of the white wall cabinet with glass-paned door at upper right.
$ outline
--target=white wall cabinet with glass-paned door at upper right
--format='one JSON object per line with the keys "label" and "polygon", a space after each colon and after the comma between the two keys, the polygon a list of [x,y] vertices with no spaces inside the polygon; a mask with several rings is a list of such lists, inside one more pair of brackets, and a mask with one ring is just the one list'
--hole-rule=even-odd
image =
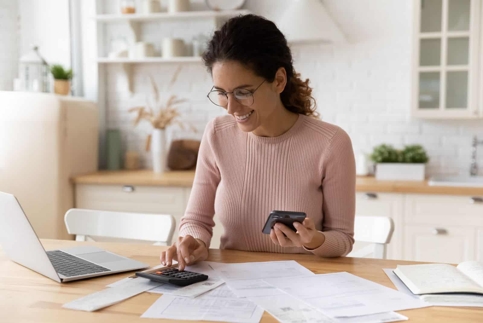
{"label": "white wall cabinet with glass-paned door at upper right", "polygon": [[413,5],[412,115],[483,117],[482,0],[413,0]]}

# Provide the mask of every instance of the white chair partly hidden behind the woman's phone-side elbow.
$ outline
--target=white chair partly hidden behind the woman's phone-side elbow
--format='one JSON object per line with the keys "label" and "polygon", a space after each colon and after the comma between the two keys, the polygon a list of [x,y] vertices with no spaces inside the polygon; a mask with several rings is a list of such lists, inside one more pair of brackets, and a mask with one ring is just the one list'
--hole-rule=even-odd
{"label": "white chair partly hidden behind the woman's phone-side elbow", "polygon": [[[354,239],[370,244],[349,252],[347,257],[386,259],[386,246],[391,242],[394,221],[388,217],[355,217]],[[370,257],[372,255],[372,257]]]}

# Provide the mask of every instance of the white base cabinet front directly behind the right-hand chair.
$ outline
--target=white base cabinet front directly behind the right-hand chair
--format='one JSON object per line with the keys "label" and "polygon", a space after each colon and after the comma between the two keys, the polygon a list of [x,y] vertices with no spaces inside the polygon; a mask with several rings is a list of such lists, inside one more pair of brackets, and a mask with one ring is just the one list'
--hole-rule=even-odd
{"label": "white base cabinet front directly behind the right-hand chair", "polygon": [[[356,216],[390,217],[394,221],[394,233],[387,246],[387,259],[402,259],[404,195],[394,193],[358,192],[355,194]],[[356,242],[353,250],[366,243]]]}

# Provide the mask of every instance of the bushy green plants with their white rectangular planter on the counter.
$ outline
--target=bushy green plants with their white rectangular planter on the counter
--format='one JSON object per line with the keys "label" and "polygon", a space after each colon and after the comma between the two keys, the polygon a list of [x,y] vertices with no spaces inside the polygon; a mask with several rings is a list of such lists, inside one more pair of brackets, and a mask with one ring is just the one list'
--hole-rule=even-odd
{"label": "bushy green plants with their white rectangular planter on the counter", "polygon": [[429,161],[421,145],[409,145],[395,149],[391,145],[374,147],[370,159],[376,163],[376,179],[424,180]]}

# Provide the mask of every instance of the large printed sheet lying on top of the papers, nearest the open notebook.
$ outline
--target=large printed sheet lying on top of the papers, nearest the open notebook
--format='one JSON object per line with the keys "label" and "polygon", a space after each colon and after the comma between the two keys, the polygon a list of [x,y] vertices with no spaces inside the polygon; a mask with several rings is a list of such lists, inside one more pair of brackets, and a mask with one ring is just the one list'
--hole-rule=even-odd
{"label": "large printed sheet lying on top of the papers, nearest the open notebook", "polygon": [[429,304],[347,272],[291,279],[265,279],[330,317],[360,316]]}

